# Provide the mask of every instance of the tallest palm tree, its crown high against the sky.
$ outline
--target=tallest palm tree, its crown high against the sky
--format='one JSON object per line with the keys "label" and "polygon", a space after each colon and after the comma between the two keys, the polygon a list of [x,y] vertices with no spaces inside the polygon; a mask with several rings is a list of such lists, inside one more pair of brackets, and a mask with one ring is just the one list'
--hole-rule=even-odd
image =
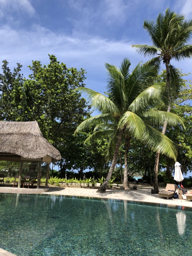
{"label": "tallest palm tree, its crown high against the sky", "polygon": [[[147,30],[153,46],[132,45],[137,52],[144,56],[154,57],[149,63],[160,66],[161,61],[166,66],[166,90],[169,99],[167,112],[171,111],[172,95],[176,95],[181,80],[179,72],[171,64],[171,59],[180,61],[192,57],[192,44],[187,44],[192,33],[192,20],[185,20],[185,17],[167,9],[165,16],[161,13],[154,21],[144,21],[144,29]],[[172,90],[172,93],[170,91]],[[165,134],[167,122],[164,123],[162,134]],[[156,152],[154,167],[154,190],[159,193],[158,188],[158,166],[160,152]]]}

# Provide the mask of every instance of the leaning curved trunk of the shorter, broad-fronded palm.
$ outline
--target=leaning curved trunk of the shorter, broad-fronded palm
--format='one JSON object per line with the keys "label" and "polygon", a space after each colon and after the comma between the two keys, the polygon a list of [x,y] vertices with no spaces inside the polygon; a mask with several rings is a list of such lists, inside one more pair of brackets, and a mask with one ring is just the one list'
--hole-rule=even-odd
{"label": "leaning curved trunk of the shorter, broad-fronded palm", "polygon": [[116,165],[116,162],[117,162],[117,156],[118,156],[119,147],[121,145],[122,135],[123,135],[123,130],[121,130],[119,132],[119,135],[118,135],[118,138],[117,138],[117,143],[116,143],[114,154],[113,154],[113,160],[112,160],[112,163],[111,163],[110,170],[109,170],[109,172],[107,174],[106,180],[103,182],[101,187],[98,188],[98,190],[97,190],[98,193],[105,193],[106,189],[108,188],[110,178],[111,178],[111,176],[113,174],[113,171],[114,171],[114,168],[115,168],[115,165]]}

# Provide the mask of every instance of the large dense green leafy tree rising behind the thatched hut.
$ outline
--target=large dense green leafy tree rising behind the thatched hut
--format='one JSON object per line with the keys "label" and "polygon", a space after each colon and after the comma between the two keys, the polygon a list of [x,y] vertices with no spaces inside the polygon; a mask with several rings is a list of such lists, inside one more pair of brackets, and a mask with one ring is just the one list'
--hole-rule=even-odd
{"label": "large dense green leafy tree rising behind the thatched hut", "polygon": [[90,107],[74,91],[84,86],[85,70],[67,68],[54,55],[49,55],[49,60],[48,65],[32,61],[28,79],[20,73],[20,64],[11,72],[8,62],[3,61],[0,116],[5,121],[36,120],[43,136],[60,151],[62,160],[58,164],[64,176],[79,157],[76,152],[84,139],[74,138],[73,133],[84,118],[90,117]]}

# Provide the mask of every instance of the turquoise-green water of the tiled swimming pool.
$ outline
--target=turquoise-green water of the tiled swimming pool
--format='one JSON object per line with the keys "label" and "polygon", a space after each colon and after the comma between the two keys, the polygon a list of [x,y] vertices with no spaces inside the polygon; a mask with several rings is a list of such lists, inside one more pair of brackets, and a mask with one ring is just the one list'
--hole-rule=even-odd
{"label": "turquoise-green water of the tiled swimming pool", "polygon": [[0,194],[0,247],[17,256],[191,256],[192,208]]}

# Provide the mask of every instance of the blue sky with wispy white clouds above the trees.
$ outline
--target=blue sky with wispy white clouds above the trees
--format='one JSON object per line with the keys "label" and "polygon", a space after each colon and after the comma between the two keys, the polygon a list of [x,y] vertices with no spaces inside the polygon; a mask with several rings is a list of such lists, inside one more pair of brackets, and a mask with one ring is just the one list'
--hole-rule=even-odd
{"label": "blue sky with wispy white clouds above the trees", "polygon": [[[192,17],[191,0],[0,0],[0,60],[11,69],[21,63],[28,77],[32,60],[48,64],[54,54],[68,68],[84,68],[86,87],[104,92],[105,63],[145,62],[130,46],[151,44],[143,21],[167,7]],[[191,72],[192,60],[173,64]]]}

